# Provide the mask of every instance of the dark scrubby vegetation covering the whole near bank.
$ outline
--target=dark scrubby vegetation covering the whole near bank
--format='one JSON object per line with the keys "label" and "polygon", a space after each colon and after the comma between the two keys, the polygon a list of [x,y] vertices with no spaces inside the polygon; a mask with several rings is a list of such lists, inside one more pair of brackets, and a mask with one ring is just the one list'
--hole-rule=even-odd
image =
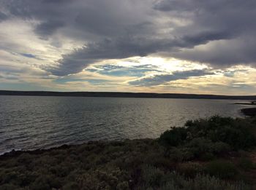
{"label": "dark scrubby vegetation covering the whole near bank", "polygon": [[256,119],[212,116],[158,139],[0,157],[0,189],[254,189]]}

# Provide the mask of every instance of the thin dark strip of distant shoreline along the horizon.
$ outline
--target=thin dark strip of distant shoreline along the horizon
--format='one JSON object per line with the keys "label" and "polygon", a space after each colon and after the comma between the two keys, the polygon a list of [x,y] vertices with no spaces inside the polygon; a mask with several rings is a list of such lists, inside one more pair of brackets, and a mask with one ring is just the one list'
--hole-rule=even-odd
{"label": "thin dark strip of distant shoreline along the horizon", "polygon": [[64,97],[110,97],[110,98],[184,98],[217,100],[256,100],[256,95],[200,95],[146,92],[52,92],[0,90],[0,95],[64,96]]}

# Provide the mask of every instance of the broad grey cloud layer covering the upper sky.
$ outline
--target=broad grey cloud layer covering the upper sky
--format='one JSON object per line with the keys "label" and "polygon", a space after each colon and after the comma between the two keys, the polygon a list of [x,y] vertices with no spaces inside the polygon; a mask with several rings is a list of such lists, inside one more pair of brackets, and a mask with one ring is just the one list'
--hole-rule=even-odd
{"label": "broad grey cloud layer covering the upper sky", "polygon": [[34,32],[42,39],[58,32],[84,42],[58,67],[45,68],[58,76],[99,60],[153,53],[214,67],[256,66],[255,0],[3,0],[0,6],[0,21],[37,20]]}

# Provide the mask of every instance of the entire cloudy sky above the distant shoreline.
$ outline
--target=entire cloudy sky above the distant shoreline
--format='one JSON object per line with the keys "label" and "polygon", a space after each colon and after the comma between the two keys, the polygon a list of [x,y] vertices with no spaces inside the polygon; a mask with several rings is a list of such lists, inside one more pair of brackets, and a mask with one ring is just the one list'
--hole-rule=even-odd
{"label": "entire cloudy sky above the distant shoreline", "polygon": [[0,0],[0,90],[256,94],[255,0]]}

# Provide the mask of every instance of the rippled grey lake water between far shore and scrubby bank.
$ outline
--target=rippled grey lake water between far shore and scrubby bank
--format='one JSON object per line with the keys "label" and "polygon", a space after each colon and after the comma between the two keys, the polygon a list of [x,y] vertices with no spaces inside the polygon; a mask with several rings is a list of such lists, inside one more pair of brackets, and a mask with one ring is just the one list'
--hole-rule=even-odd
{"label": "rippled grey lake water between far shore and scrubby bank", "polygon": [[88,140],[157,138],[188,119],[241,116],[237,100],[0,96],[0,154]]}

